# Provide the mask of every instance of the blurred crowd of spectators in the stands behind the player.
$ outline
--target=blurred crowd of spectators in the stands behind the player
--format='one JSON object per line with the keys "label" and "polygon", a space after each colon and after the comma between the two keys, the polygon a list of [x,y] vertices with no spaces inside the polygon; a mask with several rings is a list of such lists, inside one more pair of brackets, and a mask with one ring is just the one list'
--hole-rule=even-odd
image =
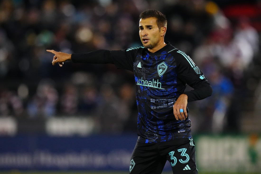
{"label": "blurred crowd of spectators in the stands behind the player", "polygon": [[52,66],[45,50],[141,46],[138,17],[145,9],[167,16],[165,40],[186,52],[213,87],[211,97],[188,104],[195,131],[240,131],[261,76],[261,1],[2,0],[0,117],[85,116],[99,132],[136,132],[132,72],[110,64]]}

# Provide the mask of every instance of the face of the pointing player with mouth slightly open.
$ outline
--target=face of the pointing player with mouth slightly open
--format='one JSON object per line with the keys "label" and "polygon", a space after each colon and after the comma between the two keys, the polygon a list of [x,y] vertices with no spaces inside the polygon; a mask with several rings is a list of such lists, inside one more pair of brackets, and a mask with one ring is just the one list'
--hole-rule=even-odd
{"label": "face of the pointing player with mouth slightly open", "polygon": [[140,40],[145,48],[153,49],[160,44],[161,31],[159,30],[156,21],[157,19],[154,17],[140,19]]}

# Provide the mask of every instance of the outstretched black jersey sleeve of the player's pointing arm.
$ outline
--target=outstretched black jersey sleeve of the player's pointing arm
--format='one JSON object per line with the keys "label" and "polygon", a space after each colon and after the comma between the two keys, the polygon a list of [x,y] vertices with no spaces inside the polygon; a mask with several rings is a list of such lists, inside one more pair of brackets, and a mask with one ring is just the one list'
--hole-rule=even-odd
{"label": "outstretched black jersey sleeve of the player's pointing arm", "polygon": [[72,54],[72,61],[78,63],[112,63],[118,69],[133,71],[135,50],[96,50],[88,53]]}

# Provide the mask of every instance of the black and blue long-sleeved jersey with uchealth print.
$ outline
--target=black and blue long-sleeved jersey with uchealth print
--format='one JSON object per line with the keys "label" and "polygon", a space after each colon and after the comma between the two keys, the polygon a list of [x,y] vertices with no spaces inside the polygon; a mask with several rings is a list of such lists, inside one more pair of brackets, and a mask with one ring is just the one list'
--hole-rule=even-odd
{"label": "black and blue long-sleeved jersey with uchealth print", "polygon": [[[144,47],[72,54],[73,62],[112,63],[134,73],[138,107],[138,142],[157,143],[191,138],[191,121],[176,120],[173,105],[181,94],[188,102],[204,99],[212,88],[204,73],[169,42],[151,53]],[[186,85],[193,88],[185,91]],[[188,108],[187,108],[188,113]]]}

